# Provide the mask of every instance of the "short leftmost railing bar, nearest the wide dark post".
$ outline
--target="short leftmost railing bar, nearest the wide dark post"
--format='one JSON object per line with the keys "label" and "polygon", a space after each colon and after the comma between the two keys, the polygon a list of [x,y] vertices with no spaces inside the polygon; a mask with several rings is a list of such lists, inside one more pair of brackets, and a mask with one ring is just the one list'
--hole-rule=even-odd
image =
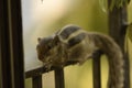
{"label": "short leftmost railing bar, nearest the wide dark post", "polygon": [[42,88],[42,75],[32,78],[33,88]]}

